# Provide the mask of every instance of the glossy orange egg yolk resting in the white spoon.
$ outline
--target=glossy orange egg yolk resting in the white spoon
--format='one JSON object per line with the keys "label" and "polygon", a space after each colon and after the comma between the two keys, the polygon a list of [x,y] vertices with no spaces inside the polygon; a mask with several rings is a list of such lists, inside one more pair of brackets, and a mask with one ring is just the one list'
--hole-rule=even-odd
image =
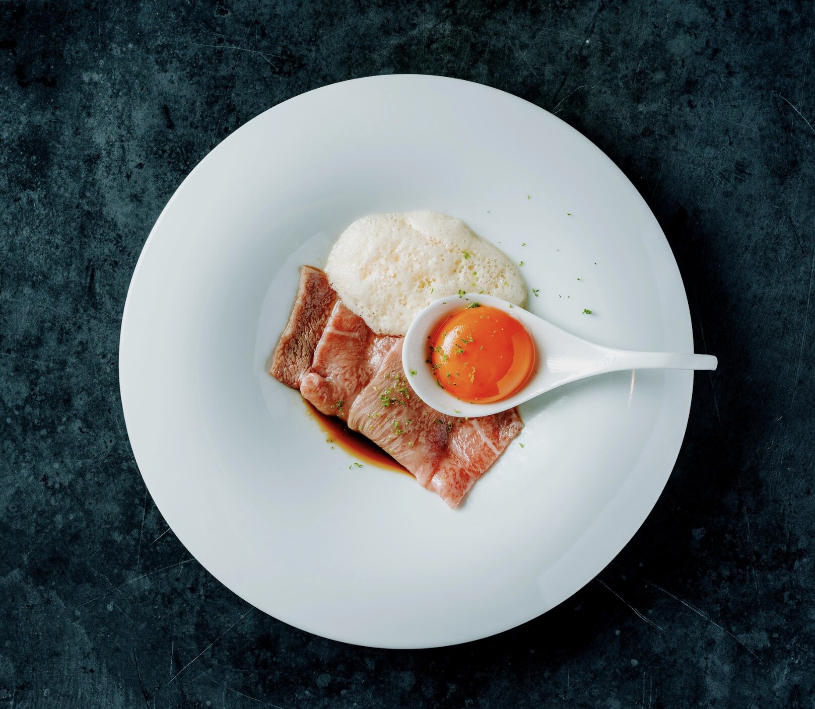
{"label": "glossy orange egg yolk resting in the white spoon", "polygon": [[430,367],[438,384],[461,401],[507,399],[535,369],[535,343],[503,310],[471,303],[430,337]]}

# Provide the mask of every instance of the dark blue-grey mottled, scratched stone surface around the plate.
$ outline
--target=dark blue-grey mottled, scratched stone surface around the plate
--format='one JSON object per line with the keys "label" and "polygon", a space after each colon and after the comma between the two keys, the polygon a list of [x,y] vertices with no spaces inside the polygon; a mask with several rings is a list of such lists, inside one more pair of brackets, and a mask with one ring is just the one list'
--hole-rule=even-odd
{"label": "dark blue-grey mottled, scratched stone surface around the plate", "polygon": [[[771,0],[2,3],[0,706],[815,706],[813,26]],[[597,143],[721,362],[598,579],[418,652],[289,628],[192,561],[117,385],[130,274],[185,174],[275,103],[394,72],[496,86]]]}

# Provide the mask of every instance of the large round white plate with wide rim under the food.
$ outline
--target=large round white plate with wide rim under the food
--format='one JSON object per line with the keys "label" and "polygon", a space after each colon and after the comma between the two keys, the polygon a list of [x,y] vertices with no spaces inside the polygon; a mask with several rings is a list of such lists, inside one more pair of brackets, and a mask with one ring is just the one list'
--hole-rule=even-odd
{"label": "large round white plate with wide rim under the food", "polygon": [[560,327],[693,351],[645,201],[522,99],[368,77],[280,103],[210,152],[158,218],[127,296],[119,366],[136,461],[178,539],[240,597],[390,648],[513,628],[597,575],[667,482],[693,387],[691,372],[619,372],[525,404],[521,437],[457,510],[406,475],[349,469],[264,363],[297,267],[323,265],[355,218],[409,209],[462,218],[522,261],[530,309]]}

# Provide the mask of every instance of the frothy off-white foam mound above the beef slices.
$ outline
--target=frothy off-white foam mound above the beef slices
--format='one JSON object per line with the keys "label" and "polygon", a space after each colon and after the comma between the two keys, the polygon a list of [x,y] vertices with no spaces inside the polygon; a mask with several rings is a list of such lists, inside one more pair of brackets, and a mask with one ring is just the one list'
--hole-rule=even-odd
{"label": "frothy off-white foam mound above the beef slices", "polygon": [[334,244],[325,271],[342,302],[389,335],[404,335],[420,310],[459,291],[526,303],[518,266],[465,222],[439,212],[357,219]]}

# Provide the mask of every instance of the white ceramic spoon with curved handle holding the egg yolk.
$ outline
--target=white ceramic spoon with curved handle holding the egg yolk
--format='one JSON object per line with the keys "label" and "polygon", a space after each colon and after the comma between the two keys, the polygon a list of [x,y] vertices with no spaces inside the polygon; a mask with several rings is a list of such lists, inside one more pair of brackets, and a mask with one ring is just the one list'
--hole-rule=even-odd
{"label": "white ceramic spoon with curved handle holding the egg yolk", "polygon": [[[493,403],[460,401],[438,386],[426,362],[428,336],[433,335],[443,318],[463,310],[472,302],[504,310],[512,315],[526,327],[535,342],[538,352],[537,369],[522,389],[509,399]],[[571,381],[594,377],[604,372],[628,369],[716,369],[716,364],[716,357],[710,354],[636,352],[597,345],[499,297],[475,293],[440,298],[427,306],[416,315],[408,328],[402,348],[402,366],[405,372],[410,372],[409,380],[413,390],[428,406],[448,416],[489,416]]]}

